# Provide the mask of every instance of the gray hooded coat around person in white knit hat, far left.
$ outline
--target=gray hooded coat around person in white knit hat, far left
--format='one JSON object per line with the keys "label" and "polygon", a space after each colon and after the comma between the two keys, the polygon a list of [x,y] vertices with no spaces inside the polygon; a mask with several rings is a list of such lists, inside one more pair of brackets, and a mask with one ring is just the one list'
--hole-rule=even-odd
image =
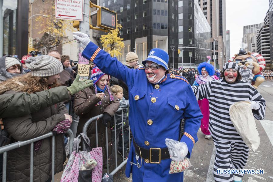
{"label": "gray hooded coat around person in white knit hat, far left", "polygon": [[[6,56],[3,56],[3,57],[0,58],[0,82],[5,81],[7,79],[11,79],[11,78],[16,77],[16,76],[22,76],[22,75],[25,74],[25,71],[23,70],[22,64],[21,64],[21,67],[20,67],[21,74],[9,73],[6,70],[6,61],[5,61],[6,57],[13,57],[13,56],[6,55]],[[13,57],[13,58],[15,58],[15,57]],[[16,58],[16,59],[18,59],[18,58]],[[19,62],[21,62],[21,61],[19,60]]]}

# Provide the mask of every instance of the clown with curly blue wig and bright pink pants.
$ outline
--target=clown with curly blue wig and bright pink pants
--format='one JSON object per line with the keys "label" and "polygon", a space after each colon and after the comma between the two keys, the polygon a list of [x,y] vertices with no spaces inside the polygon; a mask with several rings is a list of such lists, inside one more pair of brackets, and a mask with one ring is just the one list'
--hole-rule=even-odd
{"label": "clown with curly blue wig and bright pink pants", "polygon": [[[211,56],[207,56],[207,58],[209,59],[207,62],[202,62],[197,67],[200,75],[196,77],[193,84],[194,86],[199,86],[209,81],[219,79],[216,75],[214,75],[215,73],[214,67],[209,63],[211,60]],[[209,140],[211,139],[211,133],[208,130],[209,116],[210,116],[208,100],[207,99],[198,100],[198,105],[203,114],[200,128],[201,128],[201,131],[205,134],[205,139]]]}

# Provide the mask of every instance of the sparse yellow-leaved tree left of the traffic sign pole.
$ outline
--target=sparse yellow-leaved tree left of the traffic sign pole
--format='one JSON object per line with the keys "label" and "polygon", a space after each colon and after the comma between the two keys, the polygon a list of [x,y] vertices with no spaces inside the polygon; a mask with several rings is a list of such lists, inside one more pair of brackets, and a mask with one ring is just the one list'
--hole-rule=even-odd
{"label": "sparse yellow-leaved tree left of the traffic sign pole", "polygon": [[[38,16],[35,21],[35,28],[39,29],[39,34],[42,33],[42,38],[34,44],[35,49],[46,47],[47,52],[54,49],[58,45],[64,44],[66,41],[66,30],[72,30],[71,20],[62,20],[55,18],[55,0],[47,1],[49,8],[44,8],[40,12],[42,15],[47,15],[47,18]],[[68,41],[70,42],[70,41]],[[65,42],[67,43],[67,42]]]}

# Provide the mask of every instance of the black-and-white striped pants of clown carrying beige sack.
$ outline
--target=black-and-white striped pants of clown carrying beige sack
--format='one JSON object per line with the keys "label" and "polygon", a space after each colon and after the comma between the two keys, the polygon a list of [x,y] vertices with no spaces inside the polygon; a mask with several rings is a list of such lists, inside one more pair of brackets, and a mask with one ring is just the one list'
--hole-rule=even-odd
{"label": "black-and-white striped pants of clown carrying beige sack", "polygon": [[[248,146],[243,142],[213,140],[216,147],[213,176],[215,181],[233,181],[233,174],[217,174],[217,169],[243,169],[248,160]],[[236,174],[238,177],[243,175]]]}

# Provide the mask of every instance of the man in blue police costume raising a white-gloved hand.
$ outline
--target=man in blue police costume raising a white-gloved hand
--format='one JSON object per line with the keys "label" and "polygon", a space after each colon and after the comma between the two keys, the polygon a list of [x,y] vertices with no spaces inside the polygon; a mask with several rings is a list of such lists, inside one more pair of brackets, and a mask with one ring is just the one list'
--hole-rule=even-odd
{"label": "man in blue police costume raising a white-gloved hand", "polygon": [[183,181],[183,172],[169,174],[171,160],[165,139],[179,140],[180,121],[184,118],[185,133],[180,141],[187,144],[190,158],[202,114],[188,81],[167,74],[167,52],[152,49],[142,62],[143,68],[129,69],[91,42],[88,35],[73,34],[86,46],[82,53],[86,59],[128,86],[133,142],[126,176],[132,173],[133,181]]}

